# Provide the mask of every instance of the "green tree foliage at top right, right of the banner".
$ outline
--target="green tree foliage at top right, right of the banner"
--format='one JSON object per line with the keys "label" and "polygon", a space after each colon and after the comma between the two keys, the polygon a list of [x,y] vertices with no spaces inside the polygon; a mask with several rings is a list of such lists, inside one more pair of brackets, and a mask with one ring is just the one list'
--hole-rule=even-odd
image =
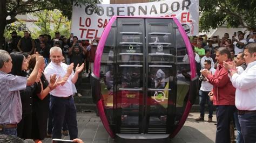
{"label": "green tree foliage at top right, right of the banner", "polygon": [[256,0],[200,0],[200,31],[223,24],[227,27],[256,28]]}

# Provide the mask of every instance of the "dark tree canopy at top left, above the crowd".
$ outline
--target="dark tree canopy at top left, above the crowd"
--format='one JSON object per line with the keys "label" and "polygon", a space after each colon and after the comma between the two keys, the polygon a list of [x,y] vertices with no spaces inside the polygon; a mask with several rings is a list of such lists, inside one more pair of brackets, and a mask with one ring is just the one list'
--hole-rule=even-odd
{"label": "dark tree canopy at top left, above the crowd", "polygon": [[[91,5],[96,8],[100,0],[1,0],[0,1],[0,49],[4,42],[6,25],[16,22],[19,13],[32,13],[41,10],[58,9],[64,16],[71,18],[72,5]],[[96,9],[97,10],[97,9]]]}

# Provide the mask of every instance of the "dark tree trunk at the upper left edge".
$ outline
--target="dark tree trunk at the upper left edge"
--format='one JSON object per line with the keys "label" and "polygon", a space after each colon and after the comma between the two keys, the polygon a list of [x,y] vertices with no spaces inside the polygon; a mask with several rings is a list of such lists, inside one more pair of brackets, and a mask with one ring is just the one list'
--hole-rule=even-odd
{"label": "dark tree trunk at the upper left edge", "polygon": [[5,42],[4,30],[6,26],[6,0],[0,1],[0,49],[3,49]]}

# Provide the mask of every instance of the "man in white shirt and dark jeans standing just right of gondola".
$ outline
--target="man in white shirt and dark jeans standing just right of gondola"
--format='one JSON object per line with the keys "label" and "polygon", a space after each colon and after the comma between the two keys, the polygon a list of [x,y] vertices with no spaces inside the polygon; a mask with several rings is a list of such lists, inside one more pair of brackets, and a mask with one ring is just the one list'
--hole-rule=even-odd
{"label": "man in white shirt and dark jeans standing just right of gondola", "polygon": [[[210,51],[208,51],[210,52]],[[205,60],[204,62],[204,68],[208,69],[212,74],[215,73],[215,69],[212,67],[212,61]],[[210,100],[210,97],[208,96],[209,92],[212,91],[213,85],[208,82],[207,78],[203,75],[200,76],[199,80],[202,82],[201,88],[199,90],[199,104],[200,104],[200,117],[198,117],[196,120],[204,120],[205,116],[205,100],[207,99],[208,104],[208,122],[212,122],[212,113],[213,113],[213,105],[212,101]]]}

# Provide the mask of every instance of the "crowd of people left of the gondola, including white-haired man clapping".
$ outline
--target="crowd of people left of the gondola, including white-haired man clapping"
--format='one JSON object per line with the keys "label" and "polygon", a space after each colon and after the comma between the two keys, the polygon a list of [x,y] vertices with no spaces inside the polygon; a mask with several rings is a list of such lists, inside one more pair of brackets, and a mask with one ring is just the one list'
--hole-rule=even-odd
{"label": "crowd of people left of the gondola, including white-haired man clapping", "polygon": [[11,34],[8,48],[0,50],[0,134],[35,142],[63,134],[82,142],[73,96],[82,96],[82,71],[88,77],[89,66],[93,69],[98,40],[90,44],[59,32],[52,40],[47,35],[34,40],[28,31],[19,39],[15,31]]}

